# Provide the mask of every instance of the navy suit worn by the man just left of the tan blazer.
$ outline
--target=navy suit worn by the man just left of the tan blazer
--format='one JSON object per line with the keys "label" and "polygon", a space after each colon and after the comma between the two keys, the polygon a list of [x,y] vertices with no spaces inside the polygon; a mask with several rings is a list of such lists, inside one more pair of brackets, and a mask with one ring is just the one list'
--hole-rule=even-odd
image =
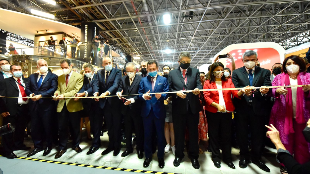
{"label": "navy suit worn by the man just left of the tan blazer", "polygon": [[[57,90],[58,76],[53,73],[47,73],[46,77],[38,87],[39,73],[31,74],[28,79],[25,92],[27,96],[42,95],[42,97],[51,97]],[[31,116],[31,138],[35,148],[43,148],[43,137],[45,136],[47,147],[52,146],[52,122],[53,112],[56,109],[55,102],[51,99],[40,99],[37,101],[29,100],[29,111]],[[44,131],[42,131],[42,129]],[[45,133],[43,136],[42,132]]]}

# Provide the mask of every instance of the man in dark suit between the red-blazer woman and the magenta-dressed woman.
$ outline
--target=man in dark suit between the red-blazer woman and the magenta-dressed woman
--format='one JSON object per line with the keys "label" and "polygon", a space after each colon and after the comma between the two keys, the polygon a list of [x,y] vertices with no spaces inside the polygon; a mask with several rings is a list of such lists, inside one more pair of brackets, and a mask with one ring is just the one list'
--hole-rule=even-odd
{"label": "man in dark suit between the red-blazer woman and the magenta-dressed woman", "polygon": [[[261,87],[259,90],[246,92],[241,100],[234,100],[236,114],[234,114],[236,122],[237,141],[240,147],[240,168],[246,168],[249,162],[248,149],[248,125],[250,125],[252,150],[252,163],[266,172],[270,169],[261,161],[263,153],[265,132],[265,117],[267,111],[267,103],[265,94],[269,92],[271,86],[270,71],[255,66],[257,61],[257,53],[255,51],[247,51],[242,56],[244,66],[232,72],[232,82],[236,88],[255,86]],[[271,91],[271,90],[270,90]]]}

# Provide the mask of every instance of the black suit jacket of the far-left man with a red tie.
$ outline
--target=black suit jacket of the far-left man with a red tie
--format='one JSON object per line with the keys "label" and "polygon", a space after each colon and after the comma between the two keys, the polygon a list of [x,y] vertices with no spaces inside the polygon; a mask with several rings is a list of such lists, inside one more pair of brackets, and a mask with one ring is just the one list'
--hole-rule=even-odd
{"label": "black suit jacket of the far-left man with a red tie", "polygon": [[[23,78],[24,84],[27,86],[28,79]],[[19,90],[16,85],[14,77],[3,79],[0,81],[0,95],[6,97],[18,97]],[[16,105],[18,104],[18,98],[0,98],[2,106],[0,107],[0,113],[9,112],[10,115],[16,115]]]}

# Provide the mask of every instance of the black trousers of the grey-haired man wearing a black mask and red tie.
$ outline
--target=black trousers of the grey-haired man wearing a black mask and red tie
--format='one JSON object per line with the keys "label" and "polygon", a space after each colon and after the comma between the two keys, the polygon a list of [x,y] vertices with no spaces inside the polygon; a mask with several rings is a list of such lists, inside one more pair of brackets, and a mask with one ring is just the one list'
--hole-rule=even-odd
{"label": "black trousers of the grey-haired man wearing a black mask and red tie", "polygon": [[173,128],[175,131],[175,157],[184,158],[184,142],[185,142],[185,128],[189,132],[189,150],[188,156],[193,159],[198,159],[199,145],[198,145],[198,123],[199,112],[192,113],[190,106],[188,106],[187,113],[174,114],[172,112]]}

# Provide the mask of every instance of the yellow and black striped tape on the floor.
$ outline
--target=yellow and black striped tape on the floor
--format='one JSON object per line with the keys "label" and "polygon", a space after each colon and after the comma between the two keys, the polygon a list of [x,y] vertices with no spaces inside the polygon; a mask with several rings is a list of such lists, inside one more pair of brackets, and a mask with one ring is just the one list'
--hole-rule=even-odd
{"label": "yellow and black striped tape on the floor", "polygon": [[88,167],[88,168],[102,168],[102,169],[107,169],[107,170],[118,170],[118,171],[126,171],[126,172],[153,173],[153,174],[178,174],[178,173],[156,172],[156,171],[148,171],[148,170],[135,170],[135,169],[126,169],[126,168],[93,166],[93,165],[88,165],[88,164],[67,163],[67,162],[61,162],[61,161],[51,161],[51,160],[46,160],[46,159],[27,158],[27,157],[20,157],[20,156],[18,156],[17,158],[26,159],[30,161],[40,161],[40,162],[45,162],[45,163],[64,164],[64,165],[80,166],[80,167]]}

